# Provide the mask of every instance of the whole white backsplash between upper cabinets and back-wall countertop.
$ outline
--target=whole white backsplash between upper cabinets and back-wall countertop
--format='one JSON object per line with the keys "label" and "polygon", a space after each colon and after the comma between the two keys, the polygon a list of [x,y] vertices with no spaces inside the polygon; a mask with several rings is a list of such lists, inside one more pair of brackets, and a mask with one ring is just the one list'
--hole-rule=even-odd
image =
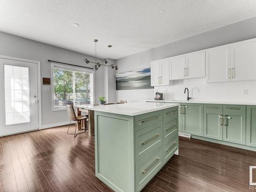
{"label": "whole white backsplash between upper cabinets and back-wall countertop", "polygon": [[[256,80],[206,83],[205,78],[195,78],[175,80],[172,84],[154,89],[116,91],[116,99],[128,102],[152,100],[159,91],[165,100],[186,100],[184,89],[187,87],[193,100],[256,101]],[[248,94],[244,95],[243,90],[248,90]]]}

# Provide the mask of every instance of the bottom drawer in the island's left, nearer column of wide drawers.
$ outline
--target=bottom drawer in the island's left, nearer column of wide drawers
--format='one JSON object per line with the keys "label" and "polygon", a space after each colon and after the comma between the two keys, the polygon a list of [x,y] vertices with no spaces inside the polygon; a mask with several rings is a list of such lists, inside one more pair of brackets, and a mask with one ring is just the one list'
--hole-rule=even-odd
{"label": "bottom drawer in the island's left, nearer column of wide drawers", "polygon": [[163,145],[142,158],[135,165],[136,191],[141,190],[150,181],[163,164]]}

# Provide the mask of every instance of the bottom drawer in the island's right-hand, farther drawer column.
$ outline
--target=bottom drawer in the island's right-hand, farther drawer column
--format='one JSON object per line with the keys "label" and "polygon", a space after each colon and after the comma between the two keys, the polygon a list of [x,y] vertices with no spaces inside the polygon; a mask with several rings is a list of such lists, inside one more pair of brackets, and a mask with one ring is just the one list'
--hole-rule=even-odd
{"label": "bottom drawer in the island's right-hand, farther drawer column", "polygon": [[169,138],[163,143],[163,163],[166,163],[178,150],[178,136]]}

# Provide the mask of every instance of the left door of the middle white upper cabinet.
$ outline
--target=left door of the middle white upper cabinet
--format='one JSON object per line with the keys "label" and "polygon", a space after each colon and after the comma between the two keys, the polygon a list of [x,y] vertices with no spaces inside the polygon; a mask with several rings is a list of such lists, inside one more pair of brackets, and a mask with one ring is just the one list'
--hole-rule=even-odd
{"label": "left door of the middle white upper cabinet", "polygon": [[185,55],[169,58],[169,79],[186,78],[186,57]]}

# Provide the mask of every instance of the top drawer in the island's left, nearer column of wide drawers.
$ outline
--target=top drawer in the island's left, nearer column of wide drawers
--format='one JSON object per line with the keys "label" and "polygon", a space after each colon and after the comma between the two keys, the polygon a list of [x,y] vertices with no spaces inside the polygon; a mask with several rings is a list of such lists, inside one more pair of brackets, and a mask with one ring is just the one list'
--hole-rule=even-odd
{"label": "top drawer in the island's left, nearer column of wide drawers", "polygon": [[135,116],[135,131],[163,120],[162,110]]}

